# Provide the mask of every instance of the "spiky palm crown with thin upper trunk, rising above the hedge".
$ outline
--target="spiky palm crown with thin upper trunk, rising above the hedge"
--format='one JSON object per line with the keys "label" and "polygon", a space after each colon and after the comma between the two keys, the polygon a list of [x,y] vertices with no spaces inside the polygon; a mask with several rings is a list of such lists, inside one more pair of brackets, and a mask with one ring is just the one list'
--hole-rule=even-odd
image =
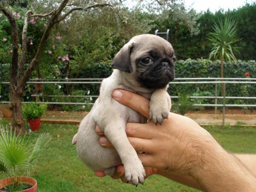
{"label": "spiky palm crown with thin upper trunk, rising above the hedge", "polygon": [[237,34],[237,23],[231,18],[225,18],[224,23],[218,20],[218,25],[215,23],[213,32],[208,34],[208,40],[213,44],[209,59],[220,59],[221,61],[221,75],[223,78],[223,62],[236,61],[235,52],[238,52],[238,47],[234,44],[241,40]]}

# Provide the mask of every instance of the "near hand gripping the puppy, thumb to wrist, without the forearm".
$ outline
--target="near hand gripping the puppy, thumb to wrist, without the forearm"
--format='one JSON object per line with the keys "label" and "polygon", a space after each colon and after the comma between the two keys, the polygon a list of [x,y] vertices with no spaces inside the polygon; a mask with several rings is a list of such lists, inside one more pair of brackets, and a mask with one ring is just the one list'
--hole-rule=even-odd
{"label": "near hand gripping the puppy, thumb to wrist, without the forearm", "polygon": [[[116,97],[118,92],[122,97]],[[148,117],[148,99],[126,90],[115,90],[113,98]],[[100,133],[100,130],[96,131]],[[169,113],[163,125],[128,123],[126,133],[136,151],[146,152],[138,155],[145,167],[182,175],[198,171],[205,149],[222,149],[208,131],[190,118],[175,113]],[[104,137],[99,142],[104,147],[111,147]]]}

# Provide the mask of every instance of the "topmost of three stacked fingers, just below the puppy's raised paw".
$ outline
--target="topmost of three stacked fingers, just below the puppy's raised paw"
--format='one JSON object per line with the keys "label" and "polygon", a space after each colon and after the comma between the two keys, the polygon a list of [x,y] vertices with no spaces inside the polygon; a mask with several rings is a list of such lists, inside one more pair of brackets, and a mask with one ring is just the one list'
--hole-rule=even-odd
{"label": "topmost of three stacked fingers, just below the puppy's raised paw", "polygon": [[155,126],[156,125],[153,122],[147,124],[127,123],[126,134],[130,137],[152,139],[159,131]]}

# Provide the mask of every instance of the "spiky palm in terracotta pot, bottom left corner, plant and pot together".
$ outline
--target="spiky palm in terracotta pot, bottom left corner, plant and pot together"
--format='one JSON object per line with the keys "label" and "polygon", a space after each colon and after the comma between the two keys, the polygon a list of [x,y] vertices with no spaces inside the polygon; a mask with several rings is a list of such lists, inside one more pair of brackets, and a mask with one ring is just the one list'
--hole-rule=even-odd
{"label": "spiky palm in terracotta pot, bottom left corner, plant and pot together", "polygon": [[41,134],[33,145],[27,135],[16,135],[0,124],[0,176],[7,176],[0,180],[0,192],[36,192],[37,181],[29,177],[30,169],[50,139],[49,133]]}

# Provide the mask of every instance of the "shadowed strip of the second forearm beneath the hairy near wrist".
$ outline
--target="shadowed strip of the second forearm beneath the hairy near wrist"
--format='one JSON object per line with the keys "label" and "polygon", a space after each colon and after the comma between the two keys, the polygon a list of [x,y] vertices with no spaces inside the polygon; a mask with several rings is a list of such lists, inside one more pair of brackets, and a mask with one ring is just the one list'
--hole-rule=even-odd
{"label": "shadowed strip of the second forearm beneath the hairy near wrist", "polygon": [[172,174],[170,172],[159,170],[158,173],[161,176],[171,179],[172,181],[177,181],[178,183],[193,187],[195,189],[203,190],[203,188],[195,181],[194,178],[190,176],[181,176],[177,174]]}

